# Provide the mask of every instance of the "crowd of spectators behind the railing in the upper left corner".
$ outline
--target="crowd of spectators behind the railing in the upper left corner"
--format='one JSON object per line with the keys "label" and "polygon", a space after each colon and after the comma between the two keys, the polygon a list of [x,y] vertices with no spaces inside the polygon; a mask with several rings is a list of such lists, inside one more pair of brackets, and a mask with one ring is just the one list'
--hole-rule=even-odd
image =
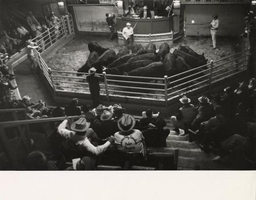
{"label": "crowd of spectators behind the railing in the upper left corner", "polygon": [[26,40],[33,38],[36,38],[34,41],[38,41],[41,51],[44,51],[45,44],[50,42],[50,39],[43,38],[43,33],[52,28],[52,35],[55,34],[52,42],[57,40],[60,34],[59,22],[60,19],[54,12],[38,22],[32,11],[28,12],[26,22],[23,23],[14,17],[0,20],[0,52],[9,55],[20,52],[26,46]]}

